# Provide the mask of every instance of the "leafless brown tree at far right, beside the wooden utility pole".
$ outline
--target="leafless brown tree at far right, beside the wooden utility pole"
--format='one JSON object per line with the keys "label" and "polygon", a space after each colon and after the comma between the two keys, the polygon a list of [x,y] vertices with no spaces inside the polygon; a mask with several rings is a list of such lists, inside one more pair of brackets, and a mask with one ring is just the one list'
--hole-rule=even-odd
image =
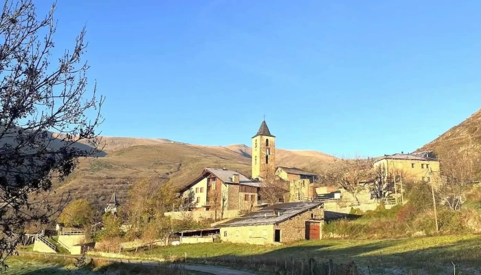
{"label": "leafless brown tree at far right, beside the wooden utility pole", "polygon": [[[447,150],[440,152],[440,193],[446,204],[459,210],[465,193],[478,179],[476,169],[480,166],[480,156],[476,151]],[[434,177],[436,178],[436,177]]]}

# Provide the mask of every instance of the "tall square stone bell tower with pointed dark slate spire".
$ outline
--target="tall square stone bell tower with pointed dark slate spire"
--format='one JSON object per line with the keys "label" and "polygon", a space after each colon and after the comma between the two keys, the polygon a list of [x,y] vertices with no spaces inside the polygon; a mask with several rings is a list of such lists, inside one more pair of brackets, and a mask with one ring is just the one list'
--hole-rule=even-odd
{"label": "tall square stone bell tower with pointed dark slate spire", "polygon": [[276,137],[271,135],[265,120],[252,137],[252,178],[262,179],[276,172]]}

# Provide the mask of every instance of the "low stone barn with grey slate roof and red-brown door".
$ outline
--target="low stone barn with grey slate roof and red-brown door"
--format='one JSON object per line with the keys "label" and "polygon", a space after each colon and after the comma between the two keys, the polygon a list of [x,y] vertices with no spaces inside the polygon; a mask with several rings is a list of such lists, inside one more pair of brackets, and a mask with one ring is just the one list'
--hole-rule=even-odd
{"label": "low stone barn with grey slate roof and red-brown door", "polygon": [[219,224],[221,240],[258,245],[322,239],[320,202],[278,203]]}

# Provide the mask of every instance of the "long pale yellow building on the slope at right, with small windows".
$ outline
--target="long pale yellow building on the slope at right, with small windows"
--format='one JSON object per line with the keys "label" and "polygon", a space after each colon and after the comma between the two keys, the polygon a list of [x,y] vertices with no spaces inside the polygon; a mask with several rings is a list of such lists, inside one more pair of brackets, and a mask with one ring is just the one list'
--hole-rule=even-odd
{"label": "long pale yellow building on the slope at right, with small windows", "polygon": [[390,178],[408,181],[436,181],[439,177],[439,160],[432,151],[384,155],[374,162],[374,167],[384,166]]}

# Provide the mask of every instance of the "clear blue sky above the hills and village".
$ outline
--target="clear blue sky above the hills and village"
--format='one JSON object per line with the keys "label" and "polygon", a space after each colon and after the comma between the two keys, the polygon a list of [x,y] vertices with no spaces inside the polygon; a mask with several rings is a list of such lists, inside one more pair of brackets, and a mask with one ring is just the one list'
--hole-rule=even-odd
{"label": "clear blue sky above the hills and village", "polygon": [[410,152],[481,108],[481,1],[394,2],[58,1],[54,39],[87,26],[102,135]]}

